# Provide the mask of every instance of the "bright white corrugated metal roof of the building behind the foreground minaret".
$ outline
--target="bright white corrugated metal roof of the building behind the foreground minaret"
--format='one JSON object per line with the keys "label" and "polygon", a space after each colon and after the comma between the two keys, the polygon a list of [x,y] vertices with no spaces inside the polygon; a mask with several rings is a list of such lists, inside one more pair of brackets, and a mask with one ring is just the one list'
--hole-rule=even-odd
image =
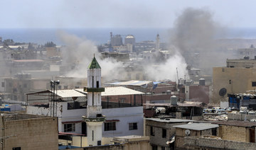
{"label": "bright white corrugated metal roof of the building behind the foreground minaret", "polygon": [[[87,93],[83,91],[83,88],[75,89],[76,91],[80,91],[82,93]],[[124,96],[124,95],[135,95],[135,94],[144,94],[140,91],[135,91],[130,88],[125,88],[122,86],[116,87],[105,87],[105,92],[102,92],[102,96]]]}

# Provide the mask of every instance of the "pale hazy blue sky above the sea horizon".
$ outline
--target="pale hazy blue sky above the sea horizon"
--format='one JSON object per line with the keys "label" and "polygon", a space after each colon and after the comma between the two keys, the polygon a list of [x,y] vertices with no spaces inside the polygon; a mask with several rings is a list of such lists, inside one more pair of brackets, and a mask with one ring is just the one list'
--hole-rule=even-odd
{"label": "pale hazy blue sky above the sea horizon", "polygon": [[205,8],[232,28],[256,27],[255,0],[1,0],[0,28],[170,28],[185,8]]}

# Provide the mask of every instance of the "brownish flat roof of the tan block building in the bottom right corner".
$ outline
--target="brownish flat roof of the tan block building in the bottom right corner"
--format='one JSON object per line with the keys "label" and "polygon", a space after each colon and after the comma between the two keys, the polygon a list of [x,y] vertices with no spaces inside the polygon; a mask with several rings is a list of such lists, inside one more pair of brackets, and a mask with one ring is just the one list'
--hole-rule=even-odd
{"label": "brownish flat roof of the tan block building in the bottom right corner", "polygon": [[230,120],[227,122],[214,122],[217,125],[230,125],[235,127],[255,127],[256,122],[249,122],[249,121],[239,121],[239,120]]}

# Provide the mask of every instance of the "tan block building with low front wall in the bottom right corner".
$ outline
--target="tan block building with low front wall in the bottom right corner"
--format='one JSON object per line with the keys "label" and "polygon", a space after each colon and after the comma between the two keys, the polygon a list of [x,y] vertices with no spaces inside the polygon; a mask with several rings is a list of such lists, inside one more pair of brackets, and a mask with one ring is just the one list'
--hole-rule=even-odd
{"label": "tan block building with low front wall in the bottom right corner", "polygon": [[234,121],[217,122],[218,137],[215,136],[187,136],[183,146],[186,149],[256,149],[255,122]]}

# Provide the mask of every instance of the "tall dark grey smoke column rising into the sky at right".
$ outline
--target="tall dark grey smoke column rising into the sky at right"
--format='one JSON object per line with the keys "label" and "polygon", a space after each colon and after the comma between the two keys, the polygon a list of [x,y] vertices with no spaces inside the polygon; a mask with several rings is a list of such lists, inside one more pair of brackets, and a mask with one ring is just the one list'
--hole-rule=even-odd
{"label": "tall dark grey smoke column rising into the sky at right", "polygon": [[223,66],[227,59],[216,40],[222,33],[224,29],[213,20],[213,13],[205,8],[186,8],[171,30],[171,44],[181,52],[188,65],[210,74],[212,67]]}

